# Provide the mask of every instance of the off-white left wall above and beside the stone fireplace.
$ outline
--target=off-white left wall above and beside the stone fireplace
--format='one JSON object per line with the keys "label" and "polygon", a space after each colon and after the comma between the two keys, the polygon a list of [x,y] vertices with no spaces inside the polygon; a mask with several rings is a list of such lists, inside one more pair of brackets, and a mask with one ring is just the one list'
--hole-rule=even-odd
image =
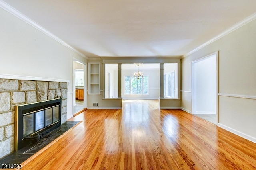
{"label": "off-white left wall above and beside the stone fireplace", "polygon": [[0,23],[0,74],[70,80],[67,116],[71,117],[72,57],[86,59],[2,8]]}

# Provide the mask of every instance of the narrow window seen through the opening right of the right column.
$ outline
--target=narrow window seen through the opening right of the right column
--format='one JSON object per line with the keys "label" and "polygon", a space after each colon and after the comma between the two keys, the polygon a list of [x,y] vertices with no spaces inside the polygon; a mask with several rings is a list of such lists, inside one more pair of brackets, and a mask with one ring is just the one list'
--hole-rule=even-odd
{"label": "narrow window seen through the opening right of the right column", "polygon": [[164,74],[164,96],[168,98],[175,97],[175,74],[174,71]]}

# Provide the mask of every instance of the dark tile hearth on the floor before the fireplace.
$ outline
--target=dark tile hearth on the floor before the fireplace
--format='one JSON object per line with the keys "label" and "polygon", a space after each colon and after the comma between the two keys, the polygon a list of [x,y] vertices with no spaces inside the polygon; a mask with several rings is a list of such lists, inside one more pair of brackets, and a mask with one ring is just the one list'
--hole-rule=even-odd
{"label": "dark tile hearth on the floor before the fireplace", "polygon": [[[30,156],[44,148],[46,145],[57,139],[60,135],[74,127],[80,121],[66,121],[57,129],[54,129],[50,133],[48,133],[45,138],[40,139],[36,144],[29,144],[28,146],[18,150],[17,152],[12,152],[0,159],[0,165],[2,164],[21,164]],[[2,168],[2,166],[0,166]]]}

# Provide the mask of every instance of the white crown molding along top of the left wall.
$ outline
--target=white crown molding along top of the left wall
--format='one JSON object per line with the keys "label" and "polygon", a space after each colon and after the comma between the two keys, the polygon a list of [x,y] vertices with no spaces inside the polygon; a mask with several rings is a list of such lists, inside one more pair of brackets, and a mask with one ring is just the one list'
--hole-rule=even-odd
{"label": "white crown molding along top of the left wall", "polygon": [[38,29],[39,31],[41,31],[42,33],[48,35],[49,37],[51,37],[52,39],[54,39],[55,41],[61,43],[62,45],[64,45],[65,47],[67,47],[68,49],[74,51],[75,53],[77,53],[78,55],[80,55],[81,57],[84,57],[87,59],[87,57],[81,53],[80,51],[76,50],[74,47],[70,46],[68,43],[64,42],[63,40],[61,40],[60,38],[58,38],[56,35],[54,35],[53,33],[51,33],[50,31],[44,29],[44,27],[40,26],[38,23],[36,23],[35,21],[31,20],[30,18],[28,18],[27,16],[25,16],[24,14],[22,14],[21,12],[19,12],[18,10],[16,10],[15,8],[13,8],[12,6],[10,6],[9,4],[7,4],[6,2],[0,0],[0,7],[3,8],[4,10],[6,10],[7,12],[9,12],[10,14],[16,16],[17,18],[19,18],[20,20],[28,23],[29,25],[31,25],[32,27]]}

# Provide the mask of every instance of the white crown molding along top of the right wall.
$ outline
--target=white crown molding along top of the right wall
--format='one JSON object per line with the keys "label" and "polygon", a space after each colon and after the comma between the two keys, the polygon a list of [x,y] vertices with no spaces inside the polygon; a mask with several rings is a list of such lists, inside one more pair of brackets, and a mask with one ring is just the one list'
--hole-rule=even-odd
{"label": "white crown molding along top of the right wall", "polygon": [[216,37],[214,37],[213,39],[210,39],[209,41],[207,41],[206,43],[200,45],[199,47],[197,47],[196,49],[190,51],[189,53],[186,53],[185,55],[182,56],[182,58],[188,57],[188,55],[202,49],[203,47],[205,47],[206,45],[209,45],[210,43],[213,43],[214,41],[224,37],[225,35],[228,35],[229,33],[235,31],[236,29],[246,25],[247,23],[253,21],[256,19],[256,13],[252,14],[251,16],[245,18],[244,20],[236,23],[235,25],[233,25],[232,27],[230,27],[229,29],[227,29],[226,31],[220,33],[219,35],[217,35]]}

